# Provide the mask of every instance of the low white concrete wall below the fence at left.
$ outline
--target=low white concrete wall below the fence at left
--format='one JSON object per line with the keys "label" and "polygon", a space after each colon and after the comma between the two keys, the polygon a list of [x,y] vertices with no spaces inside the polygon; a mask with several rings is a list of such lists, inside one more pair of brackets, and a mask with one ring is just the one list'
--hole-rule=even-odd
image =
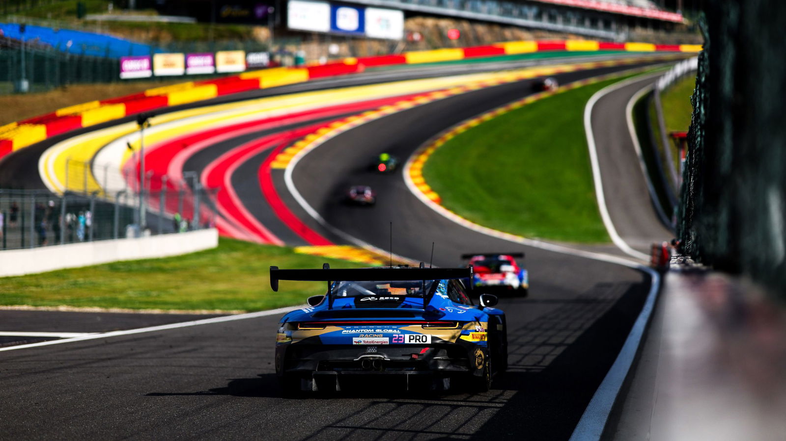
{"label": "low white concrete wall below the fence at left", "polygon": [[219,245],[215,228],[139,239],[69,243],[0,251],[0,277],[78,268],[115,261],[177,256]]}

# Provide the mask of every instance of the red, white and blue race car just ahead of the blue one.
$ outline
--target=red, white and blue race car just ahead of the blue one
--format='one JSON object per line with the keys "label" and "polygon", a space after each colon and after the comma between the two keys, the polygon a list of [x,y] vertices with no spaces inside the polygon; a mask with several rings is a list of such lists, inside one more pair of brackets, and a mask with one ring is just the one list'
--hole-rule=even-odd
{"label": "red, white and blue race car just ahead of the blue one", "polygon": [[463,254],[472,265],[472,286],[476,288],[517,290],[526,296],[529,288],[529,274],[516,263],[523,259],[524,253],[475,253]]}

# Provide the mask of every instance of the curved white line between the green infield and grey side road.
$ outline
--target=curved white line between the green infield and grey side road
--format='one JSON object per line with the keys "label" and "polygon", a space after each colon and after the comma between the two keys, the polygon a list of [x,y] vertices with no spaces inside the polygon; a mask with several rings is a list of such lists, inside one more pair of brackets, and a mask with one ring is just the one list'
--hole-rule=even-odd
{"label": "curved white line between the green infield and grey side road", "polygon": [[[656,75],[662,74],[650,76]],[[619,233],[617,233],[617,229],[612,223],[612,217],[608,214],[606,197],[603,192],[603,180],[601,180],[601,166],[597,159],[597,146],[595,144],[595,135],[592,129],[592,110],[595,107],[597,101],[608,95],[608,93],[612,93],[615,90],[621,89],[631,83],[641,81],[641,79],[646,78],[646,76],[647,75],[630,78],[622,82],[616,82],[611,86],[598,90],[593,94],[592,97],[589,98],[589,101],[587,101],[587,105],[584,108],[584,130],[586,131],[587,145],[589,147],[589,163],[592,166],[593,180],[595,182],[595,197],[597,198],[598,209],[601,211],[601,219],[603,220],[603,224],[606,227],[606,231],[608,231],[608,235],[612,238],[612,242],[614,242],[617,248],[622,250],[623,253],[626,253],[627,255],[635,257],[641,261],[649,261],[649,256],[645,253],[641,253],[641,251],[634,250],[630,247],[630,245],[627,244],[627,242],[623,240],[622,237],[620,237]]]}

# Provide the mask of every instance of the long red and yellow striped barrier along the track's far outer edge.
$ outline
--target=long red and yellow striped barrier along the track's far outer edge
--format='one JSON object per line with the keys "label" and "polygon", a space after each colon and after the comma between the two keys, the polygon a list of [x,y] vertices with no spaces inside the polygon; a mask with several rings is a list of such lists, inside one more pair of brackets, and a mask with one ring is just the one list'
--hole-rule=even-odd
{"label": "long red and yellow striped barrier along the track's far outer edge", "polygon": [[47,137],[65,133],[72,129],[135,115],[143,111],[153,111],[167,106],[209,100],[231,93],[307,82],[314,78],[351,75],[364,71],[365,67],[439,63],[484,56],[516,55],[540,51],[587,52],[596,50],[699,52],[701,46],[654,45],[641,42],[610,43],[592,40],[501,42],[490,46],[435,49],[406,52],[400,55],[347,58],[338,62],[307,67],[274,67],[262,71],[248,71],[226,78],[156,87],[146,90],[144,93],[135,93],[127,97],[90,101],[58,109],[50,115],[43,115],[2,126],[0,127],[0,159],[11,151],[46,140]]}

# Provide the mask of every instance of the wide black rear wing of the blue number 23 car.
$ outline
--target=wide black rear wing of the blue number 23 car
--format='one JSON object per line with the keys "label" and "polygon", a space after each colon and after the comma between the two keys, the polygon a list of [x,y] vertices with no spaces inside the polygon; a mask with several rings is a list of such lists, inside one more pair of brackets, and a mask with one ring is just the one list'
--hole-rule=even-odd
{"label": "wide black rear wing of the blue number 23 car", "polygon": [[399,280],[472,279],[469,268],[322,268],[279,269],[270,267],[270,287],[278,291],[279,280],[314,282],[363,282]]}

